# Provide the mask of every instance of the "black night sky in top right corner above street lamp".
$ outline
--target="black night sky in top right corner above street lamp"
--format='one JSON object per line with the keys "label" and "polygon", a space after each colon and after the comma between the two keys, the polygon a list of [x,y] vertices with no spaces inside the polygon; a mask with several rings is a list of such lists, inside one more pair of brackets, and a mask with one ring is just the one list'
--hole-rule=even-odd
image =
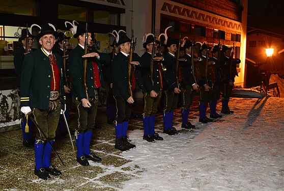
{"label": "black night sky in top right corner above street lamp", "polygon": [[284,1],[248,0],[247,25],[284,35]]}

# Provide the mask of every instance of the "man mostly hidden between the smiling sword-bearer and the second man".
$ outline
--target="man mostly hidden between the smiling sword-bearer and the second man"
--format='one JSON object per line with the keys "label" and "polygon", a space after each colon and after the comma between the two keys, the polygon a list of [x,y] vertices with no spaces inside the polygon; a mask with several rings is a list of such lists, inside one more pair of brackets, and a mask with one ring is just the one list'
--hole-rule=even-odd
{"label": "man mostly hidden between the smiling sword-bearer and the second man", "polygon": [[[70,72],[69,72],[69,66],[68,66],[68,47],[69,47],[69,39],[71,37],[67,37],[64,35],[64,33],[60,32],[58,34],[58,38],[56,40],[55,46],[53,47],[53,52],[58,53],[62,58],[65,56],[65,66],[64,68],[64,76],[65,76],[65,85],[64,85],[64,91],[66,93],[66,111],[64,112],[64,115],[66,117],[67,123],[69,122],[69,111],[72,107],[72,94],[71,94],[71,83],[70,83]],[[64,53],[64,41],[65,41],[65,53]],[[64,55],[65,54],[65,55]],[[65,124],[65,121],[63,119],[63,115],[60,115],[59,118],[59,129],[60,129],[60,136],[65,137],[67,133],[67,127]]]}

